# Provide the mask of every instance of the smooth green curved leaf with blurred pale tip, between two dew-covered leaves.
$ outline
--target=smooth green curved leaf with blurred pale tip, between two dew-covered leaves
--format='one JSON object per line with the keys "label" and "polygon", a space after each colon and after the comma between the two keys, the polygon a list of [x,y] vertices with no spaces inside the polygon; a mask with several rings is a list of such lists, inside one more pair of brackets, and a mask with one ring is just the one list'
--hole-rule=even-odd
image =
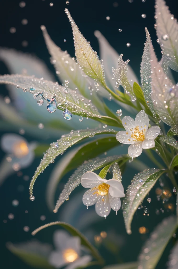
{"label": "smooth green curved leaf with blurred pale tip, between two dew-covered leaves", "polygon": [[54,209],[55,191],[61,178],[66,173],[77,168],[84,160],[95,158],[105,151],[119,145],[120,143],[118,143],[115,136],[102,137],[66,153],[55,166],[48,180],[46,187],[46,200],[48,207],[51,210]]}

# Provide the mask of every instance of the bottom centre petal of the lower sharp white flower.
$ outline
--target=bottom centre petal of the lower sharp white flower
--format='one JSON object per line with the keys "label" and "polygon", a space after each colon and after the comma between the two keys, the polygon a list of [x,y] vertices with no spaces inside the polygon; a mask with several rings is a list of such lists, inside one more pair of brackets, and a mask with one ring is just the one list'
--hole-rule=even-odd
{"label": "bottom centre petal of the lower sharp white flower", "polygon": [[100,217],[107,217],[111,211],[111,206],[109,203],[108,194],[105,196],[100,196],[97,203],[95,204],[96,213]]}

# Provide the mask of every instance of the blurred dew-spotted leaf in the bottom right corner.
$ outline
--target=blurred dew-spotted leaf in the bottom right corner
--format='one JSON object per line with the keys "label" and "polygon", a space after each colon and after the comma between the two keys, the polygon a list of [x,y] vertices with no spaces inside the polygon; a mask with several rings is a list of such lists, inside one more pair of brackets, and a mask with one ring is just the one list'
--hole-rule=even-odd
{"label": "blurred dew-spotted leaf in the bottom right corner", "polygon": [[173,233],[175,233],[176,228],[177,223],[175,216],[165,218],[157,225],[150,234],[150,238],[143,246],[139,256],[139,269],[154,269],[156,267],[165,247],[172,238]]}

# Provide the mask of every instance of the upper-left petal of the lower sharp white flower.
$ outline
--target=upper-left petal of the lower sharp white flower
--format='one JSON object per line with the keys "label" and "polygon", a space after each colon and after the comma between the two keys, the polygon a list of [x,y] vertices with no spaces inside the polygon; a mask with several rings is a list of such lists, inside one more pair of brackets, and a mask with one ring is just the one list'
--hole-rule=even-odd
{"label": "upper-left petal of the lower sharp white flower", "polygon": [[81,176],[81,185],[84,188],[92,188],[103,182],[105,182],[105,180],[101,179],[100,176],[91,171],[87,171],[83,174],[83,176]]}

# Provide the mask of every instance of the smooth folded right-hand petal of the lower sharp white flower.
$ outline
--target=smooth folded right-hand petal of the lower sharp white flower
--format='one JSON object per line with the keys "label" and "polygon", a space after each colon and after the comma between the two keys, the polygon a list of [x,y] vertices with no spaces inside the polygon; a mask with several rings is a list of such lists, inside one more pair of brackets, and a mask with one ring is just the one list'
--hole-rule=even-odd
{"label": "smooth folded right-hand petal of the lower sharp white flower", "polygon": [[124,187],[122,183],[117,179],[109,179],[107,180],[107,184],[109,187],[109,194],[113,197],[125,197]]}

